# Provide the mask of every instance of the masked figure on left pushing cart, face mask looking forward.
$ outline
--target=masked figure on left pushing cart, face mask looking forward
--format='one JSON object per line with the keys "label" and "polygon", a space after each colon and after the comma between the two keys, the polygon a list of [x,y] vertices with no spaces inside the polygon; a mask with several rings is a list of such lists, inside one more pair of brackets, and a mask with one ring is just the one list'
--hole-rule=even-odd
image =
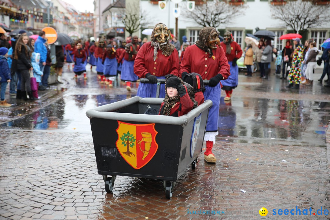
{"label": "masked figure on left pushing cart, face mask looking forward", "polygon": [[[151,83],[140,83],[137,96],[155,97],[157,79],[165,79],[170,74],[179,76],[179,54],[169,42],[170,31],[163,23],[158,23],[151,33],[151,42],[142,45],[134,62],[134,73],[147,78]],[[160,85],[159,98],[165,97],[165,85]]]}

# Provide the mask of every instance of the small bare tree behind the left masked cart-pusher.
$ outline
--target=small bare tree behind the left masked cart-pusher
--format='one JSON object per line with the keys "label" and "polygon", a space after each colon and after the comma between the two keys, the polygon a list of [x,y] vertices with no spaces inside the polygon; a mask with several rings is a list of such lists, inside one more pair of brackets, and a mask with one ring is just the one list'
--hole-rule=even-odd
{"label": "small bare tree behind the left masked cart-pusher", "polygon": [[140,30],[141,27],[149,25],[149,19],[146,16],[148,13],[144,11],[136,11],[135,6],[126,6],[126,9],[122,11],[122,22],[125,25],[125,29],[128,33],[133,34]]}

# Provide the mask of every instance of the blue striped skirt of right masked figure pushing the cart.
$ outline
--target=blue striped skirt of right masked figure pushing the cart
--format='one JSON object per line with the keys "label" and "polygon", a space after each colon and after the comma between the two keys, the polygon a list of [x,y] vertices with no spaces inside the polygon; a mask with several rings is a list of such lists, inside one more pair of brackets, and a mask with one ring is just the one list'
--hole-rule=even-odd
{"label": "blue striped skirt of right masked figure pushing the cart", "polygon": [[218,83],[215,87],[205,85],[204,99],[210,99],[213,102],[209,110],[209,116],[206,123],[206,131],[218,130],[219,105],[221,98],[221,85]]}

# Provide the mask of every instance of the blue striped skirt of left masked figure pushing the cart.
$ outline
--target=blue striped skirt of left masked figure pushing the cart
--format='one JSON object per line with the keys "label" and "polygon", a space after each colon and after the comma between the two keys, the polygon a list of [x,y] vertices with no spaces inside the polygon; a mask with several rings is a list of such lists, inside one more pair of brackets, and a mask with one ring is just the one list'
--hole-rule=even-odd
{"label": "blue striped skirt of left masked figure pushing the cart", "polygon": [[[157,79],[165,79],[165,77],[157,77]],[[157,83],[141,83],[140,82],[136,96],[140,96],[142,98],[156,98],[156,92],[157,92]],[[164,83],[160,84],[159,98],[165,98],[165,84]],[[219,107],[218,107],[218,109],[219,109]]]}

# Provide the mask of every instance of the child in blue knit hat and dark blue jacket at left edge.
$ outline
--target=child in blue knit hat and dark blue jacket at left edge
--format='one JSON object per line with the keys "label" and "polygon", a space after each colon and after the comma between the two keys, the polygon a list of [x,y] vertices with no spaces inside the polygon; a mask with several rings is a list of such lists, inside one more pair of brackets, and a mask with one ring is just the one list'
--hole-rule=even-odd
{"label": "child in blue knit hat and dark blue jacket at left edge", "polygon": [[10,69],[7,62],[8,49],[0,47],[0,107],[11,107],[12,105],[5,100],[5,92],[8,82],[12,79],[10,76]]}

